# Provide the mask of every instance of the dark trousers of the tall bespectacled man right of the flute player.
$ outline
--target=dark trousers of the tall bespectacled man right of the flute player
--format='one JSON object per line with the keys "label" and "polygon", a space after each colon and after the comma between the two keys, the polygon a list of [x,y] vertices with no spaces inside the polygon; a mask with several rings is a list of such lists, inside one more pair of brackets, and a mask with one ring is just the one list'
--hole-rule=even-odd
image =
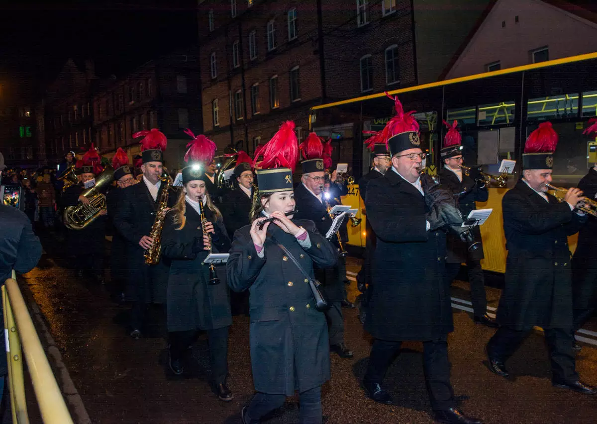
{"label": "dark trousers of the tall bespectacled man right of the flute player", "polygon": [[[398,354],[402,342],[376,339],[371,348],[365,380],[381,383],[386,371]],[[454,390],[450,383],[448,336],[423,342],[423,369],[429,401],[434,411],[454,407]]]}

